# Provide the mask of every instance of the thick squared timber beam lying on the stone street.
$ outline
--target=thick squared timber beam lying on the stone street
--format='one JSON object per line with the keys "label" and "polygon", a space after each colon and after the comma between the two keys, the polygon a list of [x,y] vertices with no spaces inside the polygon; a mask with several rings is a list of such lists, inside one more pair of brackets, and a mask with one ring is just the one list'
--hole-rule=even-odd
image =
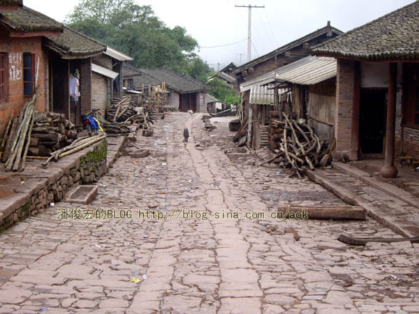
{"label": "thick squared timber beam lying on the stone street", "polygon": [[315,220],[365,220],[365,209],[360,206],[291,206],[279,207],[277,218]]}

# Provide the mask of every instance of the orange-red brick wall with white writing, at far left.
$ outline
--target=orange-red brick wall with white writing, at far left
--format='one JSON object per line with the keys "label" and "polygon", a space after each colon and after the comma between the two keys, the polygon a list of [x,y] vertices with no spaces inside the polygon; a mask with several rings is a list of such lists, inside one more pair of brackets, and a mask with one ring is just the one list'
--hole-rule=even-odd
{"label": "orange-red brick wall with white writing, at far left", "polygon": [[[4,34],[4,33],[3,33]],[[24,103],[31,98],[23,96],[23,53],[29,52],[35,54],[35,71],[39,57],[38,84],[40,91],[45,90],[44,94],[38,98],[37,109],[44,112],[47,103],[47,89],[45,87],[45,74],[47,70],[47,60],[44,59],[41,37],[34,38],[10,38],[2,35],[0,38],[0,52],[8,54],[8,71],[6,71],[6,80],[8,82],[8,91],[6,101],[0,103],[0,137],[11,114],[17,117]]]}

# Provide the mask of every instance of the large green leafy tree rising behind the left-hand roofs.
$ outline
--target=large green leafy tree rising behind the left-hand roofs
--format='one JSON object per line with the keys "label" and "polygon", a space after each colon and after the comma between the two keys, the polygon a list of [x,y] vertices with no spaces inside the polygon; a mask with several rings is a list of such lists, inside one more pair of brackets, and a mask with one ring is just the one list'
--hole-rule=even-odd
{"label": "large green leafy tree rising behind the left-hand roofs", "polygon": [[184,27],[167,27],[151,6],[133,0],[82,0],[66,23],[128,54],[138,68],[167,67],[207,81],[210,66],[194,52],[198,42]]}

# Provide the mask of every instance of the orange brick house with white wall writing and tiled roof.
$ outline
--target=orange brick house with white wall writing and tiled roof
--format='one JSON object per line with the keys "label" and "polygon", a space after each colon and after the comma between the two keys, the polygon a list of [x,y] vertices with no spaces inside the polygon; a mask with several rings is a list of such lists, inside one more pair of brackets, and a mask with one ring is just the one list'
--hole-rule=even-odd
{"label": "orange brick house with white wall writing and tiled roof", "polygon": [[[17,117],[24,103],[39,91],[37,109],[48,107],[48,53],[43,38],[57,37],[64,25],[23,6],[22,0],[0,3],[0,134],[9,117]],[[38,75],[36,75],[38,73]]]}

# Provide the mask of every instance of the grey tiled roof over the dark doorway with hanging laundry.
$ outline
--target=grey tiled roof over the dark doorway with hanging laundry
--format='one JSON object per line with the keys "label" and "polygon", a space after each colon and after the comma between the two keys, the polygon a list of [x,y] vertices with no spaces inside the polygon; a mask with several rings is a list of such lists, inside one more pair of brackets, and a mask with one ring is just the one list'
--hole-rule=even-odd
{"label": "grey tiled roof over the dark doorway with hanging laundry", "polygon": [[63,58],[91,57],[106,50],[105,44],[69,27],[64,27],[64,33],[60,36],[47,38],[45,45],[61,54]]}

